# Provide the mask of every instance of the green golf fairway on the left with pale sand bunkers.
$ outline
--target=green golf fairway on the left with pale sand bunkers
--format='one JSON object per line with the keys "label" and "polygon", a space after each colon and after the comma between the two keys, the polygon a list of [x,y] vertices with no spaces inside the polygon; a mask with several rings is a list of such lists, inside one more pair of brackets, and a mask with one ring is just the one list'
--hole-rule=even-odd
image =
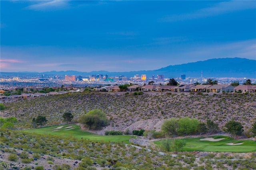
{"label": "green golf fairway on the left with pale sand bunkers", "polygon": [[[56,129],[58,127],[61,127],[61,128]],[[29,133],[58,135],[62,137],[73,136],[73,137],[76,137],[77,139],[83,138],[83,139],[90,139],[95,141],[112,141],[112,142],[123,141],[126,144],[129,144],[129,139],[132,138],[132,136],[130,135],[109,135],[109,136],[97,135],[95,133],[83,131],[80,129],[80,126],[75,124],[48,126],[48,127],[42,127],[42,128],[36,128],[36,129],[26,129],[24,131]]]}

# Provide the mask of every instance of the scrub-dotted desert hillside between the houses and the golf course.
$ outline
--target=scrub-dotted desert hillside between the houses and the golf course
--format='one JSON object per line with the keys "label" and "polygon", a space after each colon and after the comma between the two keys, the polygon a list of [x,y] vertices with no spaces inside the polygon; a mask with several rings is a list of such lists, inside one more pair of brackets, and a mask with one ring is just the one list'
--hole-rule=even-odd
{"label": "scrub-dotted desert hillside between the houses and the golf course", "polygon": [[226,121],[240,121],[244,129],[256,120],[255,94],[202,94],[196,93],[95,93],[65,94],[36,99],[2,101],[6,109],[1,117],[15,116],[20,127],[30,127],[33,117],[44,115],[48,125],[60,124],[62,114],[71,111],[73,121],[88,111],[98,108],[110,119],[102,130],[125,131],[134,129],[160,129],[162,122],[170,117],[193,117],[200,121],[212,119],[222,127]]}

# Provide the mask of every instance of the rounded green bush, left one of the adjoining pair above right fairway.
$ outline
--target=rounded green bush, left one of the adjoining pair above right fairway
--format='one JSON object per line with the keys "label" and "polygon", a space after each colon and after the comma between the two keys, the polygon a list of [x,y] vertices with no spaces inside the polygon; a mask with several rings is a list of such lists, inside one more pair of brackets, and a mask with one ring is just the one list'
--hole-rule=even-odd
{"label": "rounded green bush, left one of the adjoining pair above right fairway", "polygon": [[167,133],[168,135],[176,135],[177,134],[177,128],[179,127],[178,120],[175,118],[168,119],[164,121],[164,123],[161,126],[162,131],[164,133]]}

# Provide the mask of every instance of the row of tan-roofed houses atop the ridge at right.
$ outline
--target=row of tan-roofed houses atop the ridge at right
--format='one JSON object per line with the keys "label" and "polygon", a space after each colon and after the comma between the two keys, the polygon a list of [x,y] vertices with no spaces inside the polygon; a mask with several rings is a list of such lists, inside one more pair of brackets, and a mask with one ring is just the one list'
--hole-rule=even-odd
{"label": "row of tan-roofed houses atop the ridge at right", "polygon": [[[120,92],[120,88],[118,85],[116,86],[104,86],[94,88],[96,91],[107,91],[107,92]],[[164,85],[132,85],[127,87],[126,92],[249,92],[255,93],[256,86],[252,85],[239,85],[239,86],[231,86],[229,84],[214,84],[214,85],[194,85],[194,84],[181,84],[178,86],[164,86]]]}

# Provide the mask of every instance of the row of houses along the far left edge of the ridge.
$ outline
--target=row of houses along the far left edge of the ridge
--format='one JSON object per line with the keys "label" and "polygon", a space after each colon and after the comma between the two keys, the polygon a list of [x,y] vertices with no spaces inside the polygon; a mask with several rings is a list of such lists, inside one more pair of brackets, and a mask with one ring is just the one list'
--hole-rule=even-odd
{"label": "row of houses along the far left edge of the ridge", "polygon": [[59,91],[59,92],[49,92],[49,93],[23,93],[21,95],[12,94],[10,96],[0,96],[0,99],[14,99],[14,98],[39,98],[42,96],[53,96],[56,94],[67,94],[74,92],[82,92],[82,90],[69,90],[69,91]]}

